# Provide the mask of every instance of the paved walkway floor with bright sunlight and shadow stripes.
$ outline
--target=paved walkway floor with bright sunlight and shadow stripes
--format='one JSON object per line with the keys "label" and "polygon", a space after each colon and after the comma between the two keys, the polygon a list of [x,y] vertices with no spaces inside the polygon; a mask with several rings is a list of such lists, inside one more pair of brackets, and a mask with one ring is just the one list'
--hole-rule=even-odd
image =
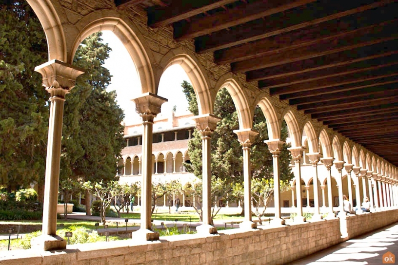
{"label": "paved walkway floor with bright sunlight and shadow stripes", "polygon": [[[398,223],[348,240],[297,260],[290,265],[398,264]],[[383,256],[387,262],[383,262]]]}

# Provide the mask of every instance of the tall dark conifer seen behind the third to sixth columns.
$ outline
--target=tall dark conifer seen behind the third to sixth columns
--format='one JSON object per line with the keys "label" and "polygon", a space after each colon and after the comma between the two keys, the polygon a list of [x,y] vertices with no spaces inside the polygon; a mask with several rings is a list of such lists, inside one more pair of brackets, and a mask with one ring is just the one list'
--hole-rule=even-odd
{"label": "tall dark conifer seen behind the third to sixth columns", "polygon": [[[183,92],[188,99],[190,110],[197,108],[196,97],[193,88],[187,82],[182,84]],[[239,129],[238,113],[235,109],[232,97],[228,91],[223,88],[219,90],[216,97],[214,114],[222,118],[217,124],[217,129],[211,136],[211,170],[216,179],[221,179],[228,183],[224,187],[233,191],[238,200],[243,200],[243,193],[239,192],[243,188],[243,158],[241,145],[237,140],[237,135],[233,132]],[[267,124],[259,107],[255,110],[254,129],[259,131],[251,148],[251,173],[254,181],[260,179],[272,179],[273,161],[272,154],[268,150],[268,146],[264,140],[268,139]],[[185,164],[187,170],[194,173],[195,176],[201,178],[202,175],[202,142],[200,133],[195,130],[193,138],[188,143],[188,153],[192,164]],[[288,136],[287,126],[283,123],[281,131],[281,139],[285,140]],[[293,173],[289,168],[290,152],[284,145],[280,153],[280,179],[290,180]],[[237,186],[238,185],[238,186]],[[240,185],[240,186],[239,186]],[[230,188],[231,187],[231,188]],[[240,188],[239,188],[240,187]],[[239,189],[238,189],[239,188]],[[214,199],[212,197],[212,199]],[[244,204],[242,204],[244,205]],[[242,214],[244,209],[242,208]]]}

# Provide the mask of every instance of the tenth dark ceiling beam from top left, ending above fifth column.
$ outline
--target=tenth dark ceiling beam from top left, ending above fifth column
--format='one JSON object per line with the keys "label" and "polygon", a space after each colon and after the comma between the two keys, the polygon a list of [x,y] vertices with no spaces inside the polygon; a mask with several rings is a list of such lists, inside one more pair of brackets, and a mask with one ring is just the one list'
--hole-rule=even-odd
{"label": "tenth dark ceiling beam from top left, ending above fifth column", "polygon": [[312,91],[302,91],[302,92],[297,92],[297,93],[290,93],[290,94],[284,94],[284,95],[279,95],[279,99],[285,100],[285,99],[295,99],[295,98],[303,98],[303,97],[308,97],[308,96],[317,96],[317,95],[323,95],[323,94],[332,94],[332,93],[338,93],[338,92],[343,92],[343,91],[351,91],[351,90],[357,90],[357,89],[365,89],[365,88],[372,88],[372,87],[380,87],[385,86],[385,85],[393,85],[398,82],[398,76],[387,76],[387,77],[381,77],[378,79],[371,79],[367,81],[362,81],[357,84],[346,84],[346,85],[341,85],[341,86],[336,86],[336,87],[328,87],[328,88],[321,88],[321,89],[316,89]]}

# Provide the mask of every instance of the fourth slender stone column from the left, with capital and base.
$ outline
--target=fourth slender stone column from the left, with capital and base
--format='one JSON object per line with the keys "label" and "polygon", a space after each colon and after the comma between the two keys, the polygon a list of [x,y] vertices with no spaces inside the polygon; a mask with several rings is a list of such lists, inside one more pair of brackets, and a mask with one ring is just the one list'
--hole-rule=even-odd
{"label": "fourth slender stone column from the left, with capital and base", "polygon": [[244,221],[239,224],[240,228],[253,229],[257,224],[252,221],[252,172],[250,165],[250,147],[257,134],[252,129],[242,129],[234,131],[238,135],[238,141],[243,150],[243,189],[244,189]]}

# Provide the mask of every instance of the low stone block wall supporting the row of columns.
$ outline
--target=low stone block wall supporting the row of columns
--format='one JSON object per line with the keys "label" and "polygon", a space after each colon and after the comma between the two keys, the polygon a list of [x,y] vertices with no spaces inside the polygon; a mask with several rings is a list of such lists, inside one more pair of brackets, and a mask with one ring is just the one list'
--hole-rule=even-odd
{"label": "low stone block wall supporting the row of columns", "polygon": [[[221,230],[218,235],[176,235],[156,242],[125,240],[71,245],[66,250],[3,251],[0,265],[136,265],[136,264],[286,264],[348,237],[340,234],[340,221],[355,237],[398,221],[398,210],[348,216],[284,227],[256,230]],[[365,225],[366,224],[366,225]]]}

